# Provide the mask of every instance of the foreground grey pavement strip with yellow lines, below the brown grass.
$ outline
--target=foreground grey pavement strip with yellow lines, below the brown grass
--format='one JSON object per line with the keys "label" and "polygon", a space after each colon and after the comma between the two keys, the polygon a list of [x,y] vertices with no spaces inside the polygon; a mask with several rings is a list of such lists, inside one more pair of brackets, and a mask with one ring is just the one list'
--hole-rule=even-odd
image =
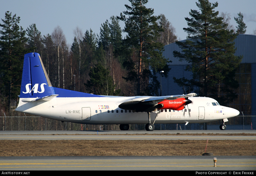
{"label": "foreground grey pavement strip with yellow lines, below the brown grass", "polygon": [[[213,158],[217,158],[214,167]],[[255,156],[0,157],[0,170],[256,170]],[[32,172],[33,173],[33,172]]]}

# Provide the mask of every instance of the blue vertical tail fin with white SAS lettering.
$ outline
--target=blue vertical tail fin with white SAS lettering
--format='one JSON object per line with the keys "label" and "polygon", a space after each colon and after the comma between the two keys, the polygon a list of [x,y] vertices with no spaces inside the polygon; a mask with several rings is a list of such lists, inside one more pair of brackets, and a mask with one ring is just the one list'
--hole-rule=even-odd
{"label": "blue vertical tail fin with white SAS lettering", "polygon": [[25,54],[20,98],[46,97],[54,94],[40,54]]}

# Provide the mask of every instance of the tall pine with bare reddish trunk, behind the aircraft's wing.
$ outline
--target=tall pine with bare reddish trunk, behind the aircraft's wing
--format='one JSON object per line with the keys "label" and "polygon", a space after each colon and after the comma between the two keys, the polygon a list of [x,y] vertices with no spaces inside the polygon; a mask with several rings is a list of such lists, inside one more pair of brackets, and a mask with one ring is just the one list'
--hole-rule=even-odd
{"label": "tall pine with bare reddish trunk, behind the aircraft's wing", "polygon": [[[125,5],[127,11],[118,19],[125,22],[124,32],[127,33],[124,45],[130,50],[131,57],[125,62],[128,69],[127,81],[136,84],[135,94],[147,94],[149,78],[143,80],[143,74],[148,74],[150,68],[158,71],[165,67],[167,60],[163,58],[163,44],[157,41],[159,32],[163,31],[157,25],[159,16],[154,16],[154,9],[146,8],[147,0],[129,0],[131,6]],[[129,65],[127,65],[129,63]],[[144,87],[145,86],[145,87]]]}

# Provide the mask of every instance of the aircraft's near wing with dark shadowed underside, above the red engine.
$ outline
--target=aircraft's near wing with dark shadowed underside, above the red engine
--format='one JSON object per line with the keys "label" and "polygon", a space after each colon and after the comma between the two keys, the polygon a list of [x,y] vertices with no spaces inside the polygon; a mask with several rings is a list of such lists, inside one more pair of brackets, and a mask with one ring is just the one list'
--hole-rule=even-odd
{"label": "aircraft's near wing with dark shadowed underside, above the red engine", "polygon": [[172,95],[172,96],[141,96],[135,97],[132,100],[127,100],[119,105],[119,108],[125,110],[132,110],[136,112],[156,111],[158,103],[164,100],[176,100],[178,98],[186,98],[190,96],[197,96],[196,93],[187,95]]}

